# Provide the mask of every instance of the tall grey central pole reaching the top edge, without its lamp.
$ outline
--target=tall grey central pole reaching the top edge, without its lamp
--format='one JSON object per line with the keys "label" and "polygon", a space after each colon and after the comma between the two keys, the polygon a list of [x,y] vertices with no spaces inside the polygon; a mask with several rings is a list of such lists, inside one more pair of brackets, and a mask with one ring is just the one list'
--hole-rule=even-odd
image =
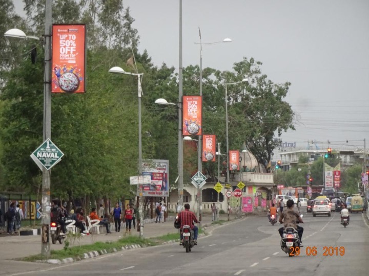
{"label": "tall grey central pole reaching the top edge, without its lamp", "polygon": [[[183,206],[183,141],[182,141],[182,0],[179,0],[179,74],[178,74],[178,209]],[[179,210],[176,210],[177,212]]]}

